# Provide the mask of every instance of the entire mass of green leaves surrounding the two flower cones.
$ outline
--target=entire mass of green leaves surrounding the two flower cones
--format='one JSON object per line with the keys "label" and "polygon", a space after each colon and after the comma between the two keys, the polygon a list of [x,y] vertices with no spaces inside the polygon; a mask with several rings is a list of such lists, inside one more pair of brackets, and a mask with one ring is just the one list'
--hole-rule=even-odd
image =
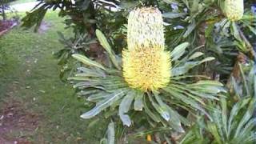
{"label": "entire mass of green leaves surrounding the two flower cones", "polygon": [[[155,142],[171,143],[185,132],[179,142],[235,143],[253,140],[250,134],[255,132],[251,114],[256,87],[252,61],[256,58],[256,18],[250,10],[253,1],[244,3],[243,18],[230,22],[223,14],[223,0],[41,0],[22,22],[37,29],[47,10],[59,9],[67,28],[74,30],[72,36],[59,33],[65,44],[55,54],[62,66],[61,77],[75,72],[69,80],[91,107],[81,117],[99,115],[96,118],[114,122],[115,138],[129,133],[135,137],[154,134]],[[172,51],[173,59],[170,85],[146,94],[127,86],[120,56],[126,47],[126,17],[141,6],[156,6],[162,11],[166,49]],[[247,57],[241,60],[242,54]],[[80,62],[74,63],[71,56]],[[250,68],[242,65],[247,61]],[[226,83],[226,87],[209,79]],[[221,93],[225,91],[228,93]],[[233,114],[234,110],[238,114]],[[198,123],[190,127],[195,119]]]}

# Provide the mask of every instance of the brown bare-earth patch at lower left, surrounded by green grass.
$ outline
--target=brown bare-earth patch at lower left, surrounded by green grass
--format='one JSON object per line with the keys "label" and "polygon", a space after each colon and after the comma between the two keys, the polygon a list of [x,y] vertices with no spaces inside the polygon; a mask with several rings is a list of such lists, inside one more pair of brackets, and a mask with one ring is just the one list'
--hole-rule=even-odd
{"label": "brown bare-earth patch at lower left, surrounded by green grass", "polygon": [[1,144],[30,144],[28,135],[38,127],[38,114],[26,110],[24,105],[14,100],[17,92],[13,84],[11,91],[7,92],[8,98],[2,102],[0,109],[0,143]]}

